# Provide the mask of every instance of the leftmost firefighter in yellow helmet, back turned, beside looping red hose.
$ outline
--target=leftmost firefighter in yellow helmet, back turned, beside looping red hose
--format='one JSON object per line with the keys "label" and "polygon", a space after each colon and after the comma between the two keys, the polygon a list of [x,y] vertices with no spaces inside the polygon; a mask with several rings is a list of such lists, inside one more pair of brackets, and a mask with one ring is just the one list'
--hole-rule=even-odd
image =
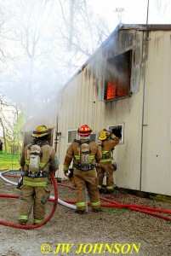
{"label": "leftmost firefighter in yellow helmet, back turned, beside looping red hose", "polygon": [[31,137],[35,139],[23,149],[20,158],[23,180],[17,187],[20,189],[18,219],[19,224],[24,225],[29,220],[32,207],[34,224],[43,221],[45,206],[50,196],[50,172],[55,173],[59,168],[59,160],[55,155],[54,148],[48,144],[47,127],[45,125],[38,126]]}

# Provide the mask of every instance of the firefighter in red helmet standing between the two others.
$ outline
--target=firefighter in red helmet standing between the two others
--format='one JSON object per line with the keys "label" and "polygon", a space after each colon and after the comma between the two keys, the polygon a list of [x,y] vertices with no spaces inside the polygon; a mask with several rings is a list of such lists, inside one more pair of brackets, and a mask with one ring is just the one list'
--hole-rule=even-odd
{"label": "firefighter in red helmet standing between the two others", "polygon": [[63,170],[68,176],[69,166],[73,160],[73,177],[76,186],[76,213],[86,213],[85,189],[88,190],[90,206],[93,212],[101,212],[100,193],[95,169],[96,162],[101,160],[98,143],[88,139],[92,130],[82,125],[77,130],[78,140],[74,140],[66,151]]}

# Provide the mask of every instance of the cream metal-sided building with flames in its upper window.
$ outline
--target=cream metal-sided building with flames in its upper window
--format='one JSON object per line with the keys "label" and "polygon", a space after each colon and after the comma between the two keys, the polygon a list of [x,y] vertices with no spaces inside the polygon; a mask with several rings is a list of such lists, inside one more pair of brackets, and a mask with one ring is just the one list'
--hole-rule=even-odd
{"label": "cream metal-sided building with flames in its upper window", "polygon": [[119,24],[61,90],[54,115],[26,132],[48,125],[63,177],[66,149],[80,125],[89,125],[94,139],[119,126],[117,186],[171,195],[170,78],[171,25]]}

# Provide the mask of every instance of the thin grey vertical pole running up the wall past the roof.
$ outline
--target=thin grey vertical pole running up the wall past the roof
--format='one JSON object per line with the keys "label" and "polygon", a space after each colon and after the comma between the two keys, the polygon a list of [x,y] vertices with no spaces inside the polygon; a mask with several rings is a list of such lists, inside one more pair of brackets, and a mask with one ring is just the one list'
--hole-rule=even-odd
{"label": "thin grey vertical pole running up the wall past the roof", "polygon": [[[145,30],[145,44],[148,42],[148,14],[149,14],[149,1],[147,1],[147,14],[146,14],[146,30]],[[143,42],[144,44],[144,42]],[[142,56],[145,46],[142,48]],[[144,68],[144,81],[143,81],[143,102],[142,102],[142,122],[141,122],[141,147],[140,147],[140,191],[142,189],[142,161],[143,161],[143,140],[144,140],[144,127],[145,125],[145,79],[146,79],[146,57],[145,57],[145,68]]]}

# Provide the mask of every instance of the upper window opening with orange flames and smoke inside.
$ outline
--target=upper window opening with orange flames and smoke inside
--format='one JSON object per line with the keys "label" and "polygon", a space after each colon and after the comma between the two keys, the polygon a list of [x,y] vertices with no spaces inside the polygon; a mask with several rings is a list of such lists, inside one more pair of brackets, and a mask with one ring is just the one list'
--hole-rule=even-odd
{"label": "upper window opening with orange flames and smoke inside", "polygon": [[105,101],[130,96],[131,50],[106,61]]}

